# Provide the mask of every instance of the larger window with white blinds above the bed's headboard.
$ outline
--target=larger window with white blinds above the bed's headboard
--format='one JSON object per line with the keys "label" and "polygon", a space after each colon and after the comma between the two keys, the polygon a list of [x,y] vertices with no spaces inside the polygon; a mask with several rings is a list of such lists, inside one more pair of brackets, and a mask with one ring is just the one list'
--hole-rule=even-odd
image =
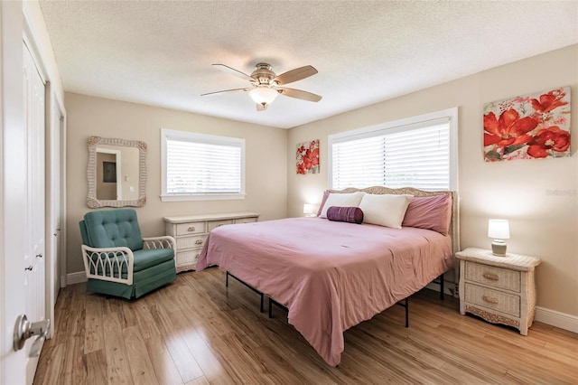
{"label": "larger window with white blinds above the bed's headboard", "polygon": [[330,186],[457,189],[457,108],[329,136]]}

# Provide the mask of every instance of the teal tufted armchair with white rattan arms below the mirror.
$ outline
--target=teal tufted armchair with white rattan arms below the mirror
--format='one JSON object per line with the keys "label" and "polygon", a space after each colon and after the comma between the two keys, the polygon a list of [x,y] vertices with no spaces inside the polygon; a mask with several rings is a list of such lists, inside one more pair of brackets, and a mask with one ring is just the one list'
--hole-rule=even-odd
{"label": "teal tufted armchair with white rattan arms below the mirror", "polygon": [[132,299],[176,279],[175,240],[144,239],[135,210],[90,211],[79,226],[87,291]]}

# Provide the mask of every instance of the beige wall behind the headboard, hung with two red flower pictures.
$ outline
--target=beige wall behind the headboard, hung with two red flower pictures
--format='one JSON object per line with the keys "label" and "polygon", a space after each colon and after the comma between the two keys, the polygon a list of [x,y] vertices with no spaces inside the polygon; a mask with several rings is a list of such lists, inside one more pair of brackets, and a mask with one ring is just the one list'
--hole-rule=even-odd
{"label": "beige wall behind the headboard, hung with two red flower pictures", "polygon": [[[489,101],[571,86],[571,129],[573,138],[578,137],[577,58],[578,45],[573,45],[291,129],[288,215],[303,215],[303,203],[319,203],[328,188],[328,135],[458,107],[461,248],[488,249],[489,218],[508,219],[508,251],[542,259],[536,269],[537,305],[578,315],[578,144],[566,158],[501,163],[482,159],[482,107]],[[318,138],[321,174],[295,174],[295,144]]]}

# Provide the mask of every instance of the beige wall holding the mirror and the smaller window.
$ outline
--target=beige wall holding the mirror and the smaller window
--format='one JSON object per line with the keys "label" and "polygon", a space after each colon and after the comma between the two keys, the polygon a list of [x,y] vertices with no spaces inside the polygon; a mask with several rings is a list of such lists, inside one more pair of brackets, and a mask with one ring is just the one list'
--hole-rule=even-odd
{"label": "beige wall holding the mirror and the smaller window", "polygon": [[[144,237],[164,234],[164,216],[228,211],[256,211],[261,214],[260,221],[286,216],[286,130],[75,93],[66,93],[65,101],[68,112],[67,273],[84,269],[78,223],[90,211],[86,204],[89,136],[146,143],[146,204],[136,209]],[[245,138],[246,199],[161,202],[161,128]]]}

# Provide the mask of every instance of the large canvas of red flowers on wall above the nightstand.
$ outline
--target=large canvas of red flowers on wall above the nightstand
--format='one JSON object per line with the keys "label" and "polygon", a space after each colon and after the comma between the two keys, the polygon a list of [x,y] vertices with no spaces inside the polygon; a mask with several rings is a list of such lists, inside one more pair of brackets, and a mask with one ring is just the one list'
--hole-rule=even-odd
{"label": "large canvas of red flowers on wall above the nightstand", "polygon": [[570,156],[570,87],[484,105],[484,160]]}

